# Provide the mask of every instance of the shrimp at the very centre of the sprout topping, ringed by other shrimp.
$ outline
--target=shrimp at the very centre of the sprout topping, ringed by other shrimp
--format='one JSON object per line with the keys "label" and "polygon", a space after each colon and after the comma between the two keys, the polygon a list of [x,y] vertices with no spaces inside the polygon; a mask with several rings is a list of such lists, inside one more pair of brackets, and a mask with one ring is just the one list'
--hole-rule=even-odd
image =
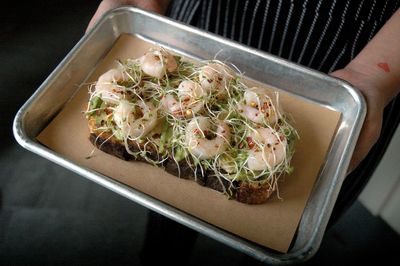
{"label": "shrimp at the very centre of the sprout topping, ringed by other shrimp", "polygon": [[191,80],[182,81],[177,88],[177,98],[168,93],[162,99],[165,109],[177,118],[192,117],[203,110],[204,99],[207,96],[203,88]]}

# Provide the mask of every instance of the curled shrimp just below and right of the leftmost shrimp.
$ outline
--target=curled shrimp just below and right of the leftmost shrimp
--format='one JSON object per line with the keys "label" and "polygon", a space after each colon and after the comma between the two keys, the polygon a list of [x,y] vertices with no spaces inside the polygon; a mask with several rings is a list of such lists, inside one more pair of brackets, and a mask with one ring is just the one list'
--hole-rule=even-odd
{"label": "curled shrimp just below and right of the leftmost shrimp", "polygon": [[157,109],[147,102],[137,104],[121,100],[113,112],[115,124],[124,137],[137,139],[146,136],[157,125]]}

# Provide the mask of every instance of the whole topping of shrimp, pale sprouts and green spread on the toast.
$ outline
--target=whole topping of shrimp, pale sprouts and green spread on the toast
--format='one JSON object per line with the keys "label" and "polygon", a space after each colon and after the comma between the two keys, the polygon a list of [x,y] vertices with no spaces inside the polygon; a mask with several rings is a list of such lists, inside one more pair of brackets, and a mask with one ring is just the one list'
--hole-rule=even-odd
{"label": "whole topping of shrimp, pale sprouts and green spread on the toast", "polygon": [[215,177],[229,184],[228,195],[239,183],[278,190],[279,178],[293,171],[298,134],[278,92],[242,79],[227,63],[194,64],[153,48],[90,86],[90,132],[107,136],[99,146],[115,140],[134,159],[172,161],[178,175],[185,165],[195,179]]}

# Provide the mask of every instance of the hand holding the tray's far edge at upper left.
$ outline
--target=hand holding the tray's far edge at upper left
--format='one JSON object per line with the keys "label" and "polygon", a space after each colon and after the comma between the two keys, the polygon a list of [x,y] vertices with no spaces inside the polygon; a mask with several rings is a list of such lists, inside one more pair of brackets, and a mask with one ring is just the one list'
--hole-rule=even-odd
{"label": "hand holding the tray's far edge at upper left", "polygon": [[108,10],[120,6],[132,5],[155,13],[164,14],[167,11],[169,2],[170,0],[103,0],[90,20],[86,32],[88,32]]}

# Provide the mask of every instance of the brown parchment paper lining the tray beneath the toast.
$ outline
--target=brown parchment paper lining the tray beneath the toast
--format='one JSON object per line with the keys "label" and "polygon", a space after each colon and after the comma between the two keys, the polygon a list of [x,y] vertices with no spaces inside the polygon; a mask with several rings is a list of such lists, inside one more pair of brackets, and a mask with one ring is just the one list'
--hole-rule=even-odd
{"label": "brown parchment paper lining the tray beneath the toast", "polygon": [[[95,69],[89,82],[116,67],[116,59],[139,57],[149,46],[143,40],[122,35]],[[293,116],[301,137],[292,161],[295,172],[284,177],[280,183],[279,194],[283,200],[275,194],[266,204],[246,205],[146,163],[126,162],[99,150],[96,150],[92,158],[85,159],[93,149],[82,113],[88,101],[87,89],[87,86],[82,86],[41,132],[37,138],[41,143],[80,165],[112,177],[210,224],[260,245],[287,252],[324,162],[340,113],[281,93],[282,106],[285,112]]]}

